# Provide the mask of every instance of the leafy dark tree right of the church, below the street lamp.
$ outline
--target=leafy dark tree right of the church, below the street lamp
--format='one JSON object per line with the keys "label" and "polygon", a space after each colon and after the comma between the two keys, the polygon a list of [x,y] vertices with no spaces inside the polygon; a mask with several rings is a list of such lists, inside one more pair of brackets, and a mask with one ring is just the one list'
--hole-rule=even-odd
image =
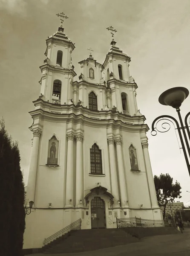
{"label": "leafy dark tree right of the church, below the street lamp", "polygon": [[165,219],[166,206],[169,201],[174,201],[175,198],[181,198],[181,186],[177,182],[173,184],[173,178],[167,173],[158,177],[154,175],[154,184],[156,190],[156,196],[159,207],[164,207],[163,219]]}

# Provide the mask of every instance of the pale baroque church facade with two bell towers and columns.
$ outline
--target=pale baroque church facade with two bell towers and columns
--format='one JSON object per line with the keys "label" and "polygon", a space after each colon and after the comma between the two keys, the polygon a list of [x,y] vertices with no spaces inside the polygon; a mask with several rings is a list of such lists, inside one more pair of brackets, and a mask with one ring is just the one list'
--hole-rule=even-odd
{"label": "pale baroque church facade with two bell towers and columns", "polygon": [[75,45],[60,26],[46,40],[40,96],[30,112],[32,154],[23,248],[81,218],[82,229],[116,228],[116,217],[162,220],[145,117],[138,111],[130,57],[112,40],[103,64],[72,65]]}

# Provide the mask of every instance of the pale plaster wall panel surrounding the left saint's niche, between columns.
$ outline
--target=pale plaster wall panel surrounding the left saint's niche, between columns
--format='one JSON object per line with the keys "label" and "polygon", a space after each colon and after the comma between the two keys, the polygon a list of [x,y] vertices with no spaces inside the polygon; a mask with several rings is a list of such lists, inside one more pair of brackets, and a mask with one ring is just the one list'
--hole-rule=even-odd
{"label": "pale plaster wall panel surrounding the left saint's niche, between columns", "polygon": [[[58,167],[46,166],[48,143],[53,134],[59,140]],[[49,203],[52,203],[52,207],[63,207],[66,145],[66,123],[44,121],[39,146],[35,207],[46,208]]]}

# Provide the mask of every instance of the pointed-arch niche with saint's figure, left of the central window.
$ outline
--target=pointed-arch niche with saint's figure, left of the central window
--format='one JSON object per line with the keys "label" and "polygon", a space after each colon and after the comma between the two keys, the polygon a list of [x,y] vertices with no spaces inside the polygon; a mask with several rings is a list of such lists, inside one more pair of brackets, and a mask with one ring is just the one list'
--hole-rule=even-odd
{"label": "pointed-arch niche with saint's figure, left of the central window", "polygon": [[59,141],[55,137],[55,135],[52,136],[52,138],[49,140],[49,146],[48,146],[48,165],[58,165],[58,146]]}

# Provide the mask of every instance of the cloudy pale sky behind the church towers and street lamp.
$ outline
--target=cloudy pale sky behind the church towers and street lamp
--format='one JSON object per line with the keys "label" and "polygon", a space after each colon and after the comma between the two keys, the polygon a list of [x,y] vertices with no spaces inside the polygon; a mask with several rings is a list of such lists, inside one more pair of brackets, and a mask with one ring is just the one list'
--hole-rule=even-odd
{"label": "cloudy pale sky behind the church towers and street lamp", "polygon": [[[79,61],[91,47],[103,63],[110,48],[108,26],[118,32],[115,41],[131,57],[130,75],[138,84],[137,103],[151,128],[162,114],[174,109],[158,103],[160,94],[171,87],[190,89],[190,1],[189,0],[0,0],[0,117],[19,142],[21,168],[27,184],[31,154],[32,125],[29,111],[40,94],[39,66],[45,59],[46,38],[60,25],[56,13],[64,12],[63,27],[75,43],[72,62],[80,74]],[[78,76],[77,76],[78,79]],[[190,111],[190,96],[181,106]],[[180,201],[190,201],[190,177],[173,127],[149,138],[154,175],[169,173],[181,184]]]}

